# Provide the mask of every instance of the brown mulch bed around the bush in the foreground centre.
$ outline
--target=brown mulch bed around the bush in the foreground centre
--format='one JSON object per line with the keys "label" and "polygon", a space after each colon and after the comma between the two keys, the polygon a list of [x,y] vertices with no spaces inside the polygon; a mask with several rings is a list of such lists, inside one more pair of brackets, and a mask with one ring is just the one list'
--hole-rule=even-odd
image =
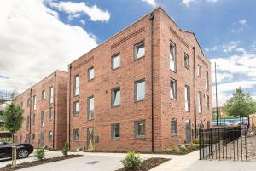
{"label": "brown mulch bed around the bush in the foreground centre", "polygon": [[136,168],[132,168],[132,169],[120,168],[116,171],[147,171],[169,160],[170,159],[168,158],[148,158],[144,160],[141,164],[139,164]]}

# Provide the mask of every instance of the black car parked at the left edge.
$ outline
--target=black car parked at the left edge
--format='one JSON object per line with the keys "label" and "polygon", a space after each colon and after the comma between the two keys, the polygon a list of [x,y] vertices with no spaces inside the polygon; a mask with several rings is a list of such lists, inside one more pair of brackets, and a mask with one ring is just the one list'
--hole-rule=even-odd
{"label": "black car parked at the left edge", "polygon": [[17,147],[17,158],[26,158],[34,151],[31,144],[11,145],[6,142],[0,142],[0,158],[12,157],[12,146]]}

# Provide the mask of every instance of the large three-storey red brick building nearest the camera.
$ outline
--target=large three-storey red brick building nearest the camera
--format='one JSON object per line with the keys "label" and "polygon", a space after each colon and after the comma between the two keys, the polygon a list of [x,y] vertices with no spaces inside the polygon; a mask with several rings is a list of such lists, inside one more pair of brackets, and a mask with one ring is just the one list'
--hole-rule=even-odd
{"label": "large three-storey red brick building nearest the camera", "polygon": [[69,65],[71,149],[156,151],[211,127],[211,63],[161,9]]}

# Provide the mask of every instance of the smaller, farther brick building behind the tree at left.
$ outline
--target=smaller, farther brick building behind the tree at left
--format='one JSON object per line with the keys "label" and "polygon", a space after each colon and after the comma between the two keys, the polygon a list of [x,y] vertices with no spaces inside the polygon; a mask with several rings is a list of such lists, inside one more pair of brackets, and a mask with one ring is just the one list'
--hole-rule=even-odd
{"label": "smaller, farther brick building behind the tree at left", "polygon": [[15,98],[24,121],[15,142],[61,149],[67,140],[68,73],[55,71]]}

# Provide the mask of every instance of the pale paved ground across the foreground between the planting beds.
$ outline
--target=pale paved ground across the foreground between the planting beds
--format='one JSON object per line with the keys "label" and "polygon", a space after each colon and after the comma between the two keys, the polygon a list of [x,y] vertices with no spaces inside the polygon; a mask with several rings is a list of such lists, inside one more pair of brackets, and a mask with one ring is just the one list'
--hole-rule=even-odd
{"label": "pale paved ground across the foreground between the planting beds", "polygon": [[[74,152],[78,154],[77,152]],[[32,168],[20,169],[20,171],[114,171],[122,168],[120,160],[125,157],[122,153],[92,153],[79,152],[82,157],[63,160],[60,162],[51,162]],[[61,156],[59,151],[46,152],[47,157]],[[142,154],[143,159],[150,157],[171,158],[169,162],[165,162],[150,171],[254,171],[256,162],[232,162],[232,161],[199,161],[199,151],[189,153],[184,156],[175,155],[154,155]],[[34,160],[34,157],[25,159],[26,162]],[[19,160],[19,162],[25,162]],[[0,162],[0,167],[10,163]]]}

